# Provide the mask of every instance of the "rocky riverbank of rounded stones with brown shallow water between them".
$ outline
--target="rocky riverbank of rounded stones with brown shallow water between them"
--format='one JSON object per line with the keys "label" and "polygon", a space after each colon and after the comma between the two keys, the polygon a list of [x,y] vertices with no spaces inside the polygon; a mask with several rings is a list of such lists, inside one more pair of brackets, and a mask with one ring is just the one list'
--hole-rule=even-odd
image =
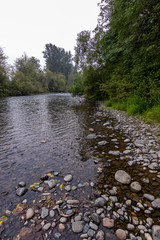
{"label": "rocky riverbank of rounded stones with brown shallow water between them", "polygon": [[[104,130],[123,132],[123,152],[114,134],[109,136],[114,148],[106,152],[109,142],[95,132],[94,126],[98,125]],[[4,211],[1,239],[11,239],[8,233],[17,224],[21,227],[14,240],[160,239],[159,127],[105,109],[94,114],[88,131],[87,140],[97,141],[95,149],[99,147],[101,154],[107,155],[103,164],[94,159],[99,182],[84,179],[73,184],[75,176],[70,172],[64,176],[55,171],[44,174],[29,187],[19,182],[15,194],[21,202],[13,211]],[[90,195],[85,199],[83,194],[88,189]],[[35,193],[32,203],[24,198],[28,191]]]}

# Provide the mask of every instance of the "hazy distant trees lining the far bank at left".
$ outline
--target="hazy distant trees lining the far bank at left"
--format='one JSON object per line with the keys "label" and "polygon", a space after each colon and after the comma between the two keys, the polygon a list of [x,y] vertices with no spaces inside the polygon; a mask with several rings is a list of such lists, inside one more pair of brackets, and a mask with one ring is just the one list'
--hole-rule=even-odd
{"label": "hazy distant trees lining the far bank at left", "polygon": [[73,71],[72,55],[63,48],[46,44],[45,68],[40,61],[24,54],[9,66],[0,48],[0,96],[21,96],[47,92],[65,92]]}

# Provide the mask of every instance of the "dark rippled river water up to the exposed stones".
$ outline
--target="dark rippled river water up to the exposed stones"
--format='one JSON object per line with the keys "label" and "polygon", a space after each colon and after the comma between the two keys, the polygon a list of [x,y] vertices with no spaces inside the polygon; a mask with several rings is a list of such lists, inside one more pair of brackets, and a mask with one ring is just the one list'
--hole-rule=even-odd
{"label": "dark rippled river water up to the exposed stones", "polygon": [[[42,174],[51,171],[60,171],[62,179],[71,173],[73,185],[94,182],[95,193],[100,191],[101,194],[105,193],[105,184],[110,188],[116,186],[114,174],[119,169],[125,169],[133,180],[140,182],[142,175],[149,177],[149,173],[142,174],[138,166],[129,167],[127,160],[108,156],[109,150],[123,152],[127,136],[113,128],[104,128],[103,123],[108,120],[114,126],[114,119],[105,116],[98,121],[95,116],[97,107],[93,103],[80,103],[70,94],[0,99],[0,216],[4,209],[13,210],[24,198],[30,202],[35,199],[33,192],[18,197],[15,192],[18,182],[25,181],[29,187],[38,182]],[[90,134],[89,128],[94,128],[99,135],[97,139],[86,138]],[[113,138],[118,139],[118,145],[111,140]],[[99,147],[97,143],[102,140],[109,144]],[[99,163],[95,164],[95,160]],[[103,169],[101,174],[97,173],[98,167]],[[143,183],[143,188],[144,192],[153,193],[156,185],[151,184],[149,189]],[[122,195],[123,200],[127,193],[130,194],[129,189],[122,189],[120,199]],[[86,187],[83,193],[77,191],[74,194],[75,198],[90,201],[96,197],[90,187]],[[11,237],[20,228],[18,221],[16,224],[13,233],[9,233]],[[117,226],[123,227],[123,223]]]}

